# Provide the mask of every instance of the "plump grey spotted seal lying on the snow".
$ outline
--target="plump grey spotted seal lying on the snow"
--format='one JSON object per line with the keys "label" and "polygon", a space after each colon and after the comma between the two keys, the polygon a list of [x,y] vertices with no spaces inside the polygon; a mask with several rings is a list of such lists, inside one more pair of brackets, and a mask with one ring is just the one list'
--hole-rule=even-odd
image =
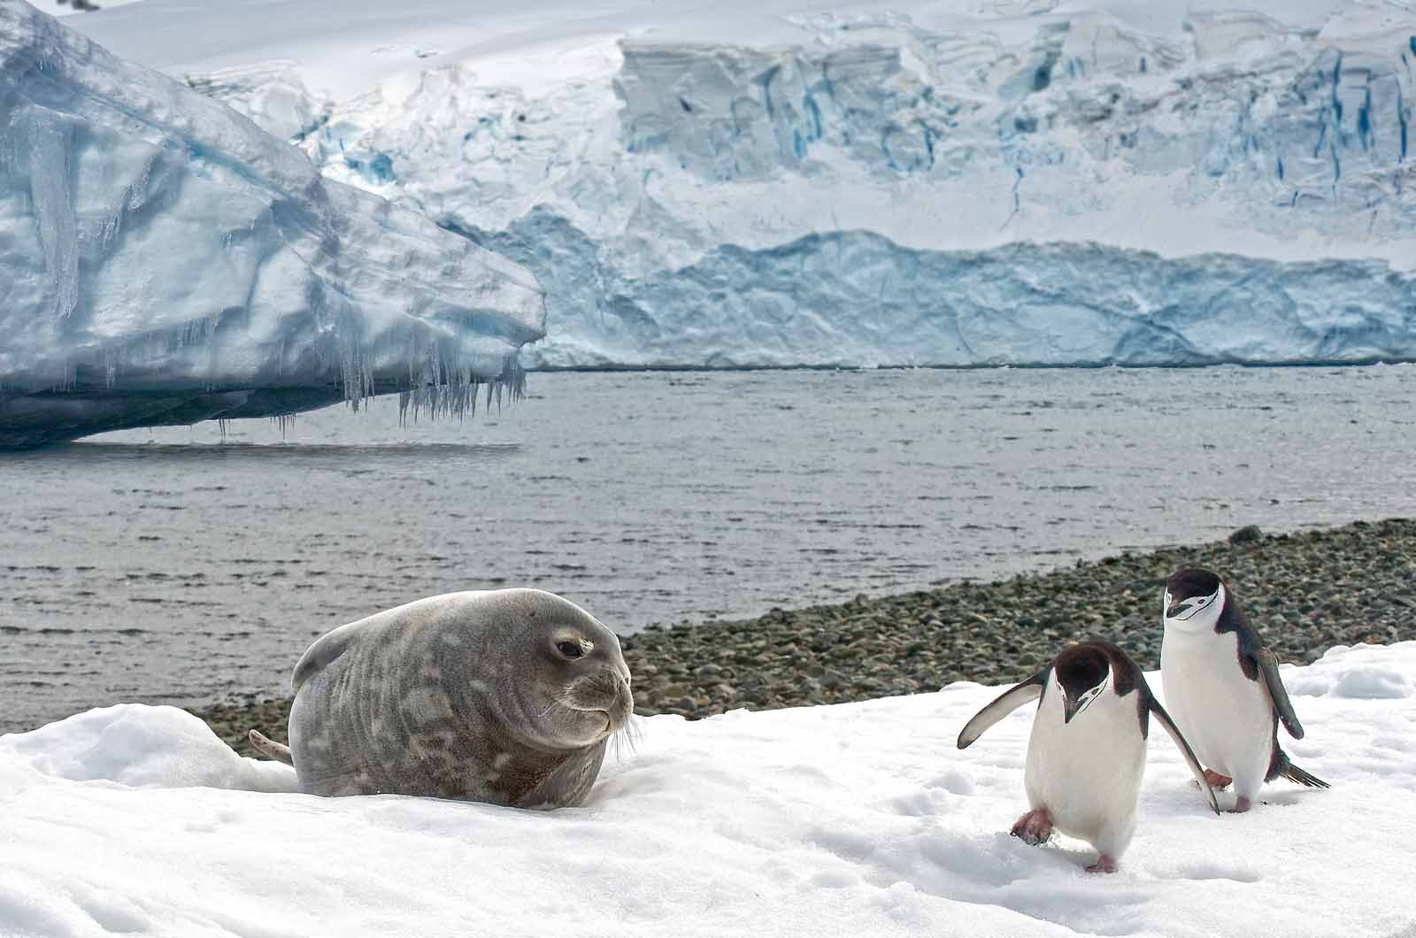
{"label": "plump grey spotted seal lying on the snow", "polygon": [[634,708],[619,639],[539,589],[449,592],[350,622],[295,666],[290,745],[312,795],[579,805]]}

